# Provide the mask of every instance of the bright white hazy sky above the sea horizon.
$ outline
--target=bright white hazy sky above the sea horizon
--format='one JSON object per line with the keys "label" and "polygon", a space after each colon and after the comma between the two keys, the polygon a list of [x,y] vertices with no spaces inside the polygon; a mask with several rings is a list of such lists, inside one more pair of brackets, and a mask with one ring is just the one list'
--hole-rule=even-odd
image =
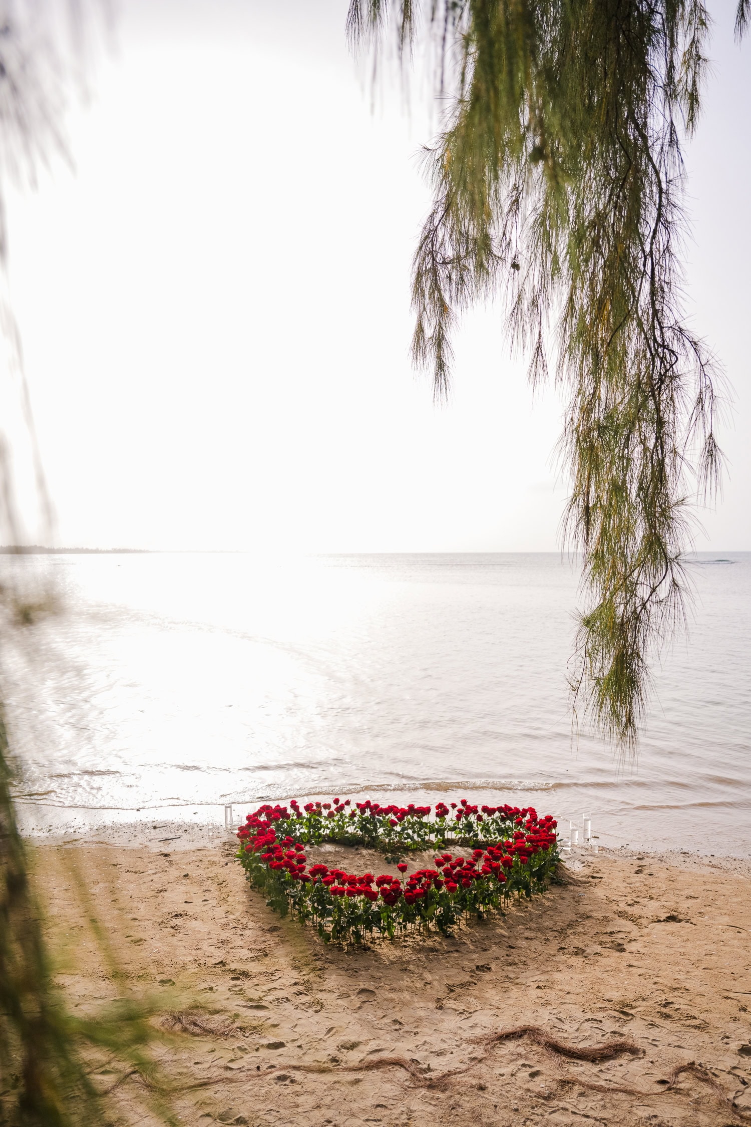
{"label": "bright white hazy sky above the sea horizon", "polygon": [[[691,326],[724,365],[728,477],[700,550],[751,549],[751,39],[712,5],[687,151]],[[120,0],[89,95],[8,205],[10,301],[55,540],[168,550],[554,551],[562,402],[498,309],[436,406],[409,357],[435,107],[375,98],[346,0]],[[23,470],[19,469],[23,489]],[[28,538],[44,533],[32,518]]]}

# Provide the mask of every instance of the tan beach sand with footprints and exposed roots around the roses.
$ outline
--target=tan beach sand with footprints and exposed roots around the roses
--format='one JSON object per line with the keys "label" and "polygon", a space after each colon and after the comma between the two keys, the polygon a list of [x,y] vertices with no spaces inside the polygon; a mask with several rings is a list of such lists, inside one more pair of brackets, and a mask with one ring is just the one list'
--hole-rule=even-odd
{"label": "tan beach sand with footprints and exposed roots around the roses", "polygon": [[[229,835],[175,837],[45,842],[33,860],[69,1005],[154,1002],[151,1051],[182,1124],[751,1122],[748,862],[582,850],[564,884],[504,917],[340,950],[266,907]],[[583,1062],[529,1035],[483,1041],[519,1026],[638,1053]],[[99,1088],[120,1079],[97,1062]],[[158,1121],[137,1074],[110,1100],[117,1121]]]}

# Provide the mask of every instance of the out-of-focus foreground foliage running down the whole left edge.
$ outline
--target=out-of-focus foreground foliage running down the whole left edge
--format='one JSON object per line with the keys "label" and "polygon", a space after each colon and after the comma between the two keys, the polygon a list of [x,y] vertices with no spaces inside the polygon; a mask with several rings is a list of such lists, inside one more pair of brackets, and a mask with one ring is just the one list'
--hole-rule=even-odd
{"label": "out-of-focus foreground foliage running down the whole left edge", "polygon": [[[90,9],[90,10],[89,10]],[[0,5],[0,268],[7,266],[5,195],[9,184],[33,187],[41,167],[66,159],[65,112],[84,90],[91,36],[106,3],[98,0],[34,0]],[[1,279],[3,285],[7,281]],[[32,438],[43,533],[52,539],[52,509],[34,437],[24,379],[20,338],[7,291],[0,290],[0,329],[8,372]],[[0,419],[0,535],[24,541],[14,491],[11,444]],[[33,569],[6,557],[0,586],[0,630],[9,641],[54,613],[56,595]],[[157,1031],[147,1000],[122,996],[97,1017],[73,1015],[53,980],[42,912],[29,881],[27,850],[12,800],[12,754],[0,703],[0,1122],[39,1127],[97,1127],[113,1121],[113,1107],[91,1080],[102,1053],[119,1065],[122,1079],[136,1076],[155,1121],[173,1122],[164,1084],[149,1051]],[[113,968],[106,934],[97,924],[86,881],[70,861],[81,916]],[[43,875],[42,875],[43,876]],[[114,1085],[117,1086],[117,1085]],[[143,1115],[144,1108],[140,1115]],[[154,1121],[154,1120],[152,1120]]]}

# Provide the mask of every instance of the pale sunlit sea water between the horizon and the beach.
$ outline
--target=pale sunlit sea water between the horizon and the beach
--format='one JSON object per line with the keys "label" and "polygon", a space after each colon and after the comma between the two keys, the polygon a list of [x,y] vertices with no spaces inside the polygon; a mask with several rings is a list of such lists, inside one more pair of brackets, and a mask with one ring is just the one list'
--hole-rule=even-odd
{"label": "pale sunlit sea water between the horizon and the beach", "polygon": [[698,556],[638,757],[571,737],[557,554],[6,559],[57,614],[6,638],[30,833],[261,799],[466,795],[602,843],[751,853],[751,553]]}

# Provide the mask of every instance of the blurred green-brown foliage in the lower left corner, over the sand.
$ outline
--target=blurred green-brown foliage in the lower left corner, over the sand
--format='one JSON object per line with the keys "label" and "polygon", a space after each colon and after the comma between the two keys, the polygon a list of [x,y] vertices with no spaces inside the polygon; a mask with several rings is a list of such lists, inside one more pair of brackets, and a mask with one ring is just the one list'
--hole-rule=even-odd
{"label": "blurred green-brown foliage in the lower left corner, over the sand", "polygon": [[[42,911],[14,816],[11,784],[7,726],[0,712],[0,1122],[104,1127],[113,1121],[107,1095],[135,1076],[155,1121],[173,1124],[168,1088],[150,1051],[158,1037],[150,1021],[155,1005],[122,995],[97,1015],[77,1017],[55,986]],[[88,924],[109,977],[123,979],[73,855],[66,866],[80,919]],[[159,1010],[163,1011],[163,1002]],[[91,1080],[102,1059],[109,1071],[120,1074],[109,1092]]]}

